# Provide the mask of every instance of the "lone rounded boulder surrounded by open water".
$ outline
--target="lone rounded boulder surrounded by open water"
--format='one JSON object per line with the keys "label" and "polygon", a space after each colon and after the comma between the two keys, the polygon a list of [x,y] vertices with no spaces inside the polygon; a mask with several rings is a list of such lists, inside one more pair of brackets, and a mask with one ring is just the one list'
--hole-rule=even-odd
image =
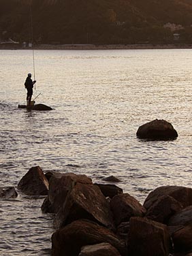
{"label": "lone rounded boulder surrounded by open water", "polygon": [[178,137],[178,133],[171,123],[165,120],[155,119],[138,128],[138,138],[151,140],[174,140]]}

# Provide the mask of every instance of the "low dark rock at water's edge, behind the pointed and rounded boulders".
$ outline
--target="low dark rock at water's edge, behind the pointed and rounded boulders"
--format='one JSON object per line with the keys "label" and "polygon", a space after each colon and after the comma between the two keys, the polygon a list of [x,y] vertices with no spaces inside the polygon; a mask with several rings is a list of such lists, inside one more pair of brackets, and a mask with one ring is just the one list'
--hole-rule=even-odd
{"label": "low dark rock at water's edge, behind the pointed and rounded boulders", "polygon": [[120,187],[117,187],[116,185],[98,184],[98,183],[95,183],[94,185],[97,185],[99,189],[101,189],[101,192],[103,193],[103,195],[105,195],[105,197],[112,198],[115,195],[119,195],[123,193],[123,189],[121,189]]}

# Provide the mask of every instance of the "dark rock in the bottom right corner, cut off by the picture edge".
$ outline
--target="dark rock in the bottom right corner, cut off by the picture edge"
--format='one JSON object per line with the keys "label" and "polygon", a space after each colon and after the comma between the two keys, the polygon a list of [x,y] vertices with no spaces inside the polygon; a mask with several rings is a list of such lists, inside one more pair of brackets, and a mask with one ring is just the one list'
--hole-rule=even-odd
{"label": "dark rock in the bottom right corner, cut off by the picture edge", "polygon": [[175,252],[192,251],[192,223],[179,229],[172,235]]}

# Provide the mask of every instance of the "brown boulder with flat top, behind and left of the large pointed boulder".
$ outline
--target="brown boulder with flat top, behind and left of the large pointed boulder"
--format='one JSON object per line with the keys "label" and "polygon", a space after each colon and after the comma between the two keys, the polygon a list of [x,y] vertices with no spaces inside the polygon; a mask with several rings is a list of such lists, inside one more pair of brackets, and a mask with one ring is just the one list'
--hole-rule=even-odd
{"label": "brown boulder with flat top, behind and left of the large pointed boulder", "polygon": [[73,173],[53,173],[49,180],[48,198],[42,205],[43,212],[57,213],[65,203],[67,194],[76,186],[76,184],[89,184],[93,182],[91,178],[82,174]]}

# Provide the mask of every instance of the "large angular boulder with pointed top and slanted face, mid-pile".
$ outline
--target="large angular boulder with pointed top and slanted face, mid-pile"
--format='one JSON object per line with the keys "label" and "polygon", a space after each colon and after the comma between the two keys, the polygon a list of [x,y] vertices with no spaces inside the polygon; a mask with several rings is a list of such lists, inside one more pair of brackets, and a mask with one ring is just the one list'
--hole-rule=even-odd
{"label": "large angular boulder with pointed top and slanted face, mid-pile", "polygon": [[74,186],[57,213],[54,225],[63,227],[77,219],[89,219],[114,229],[110,204],[99,187],[82,183]]}

